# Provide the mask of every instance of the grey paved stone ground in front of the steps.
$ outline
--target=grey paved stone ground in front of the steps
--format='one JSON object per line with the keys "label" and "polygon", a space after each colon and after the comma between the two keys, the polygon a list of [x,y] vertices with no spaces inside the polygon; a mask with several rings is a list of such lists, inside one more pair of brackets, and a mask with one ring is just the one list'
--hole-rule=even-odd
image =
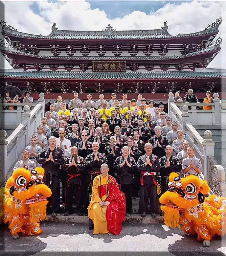
{"label": "grey paved stone ground in front of the steps", "polygon": [[210,247],[178,228],[162,223],[123,223],[120,235],[93,235],[86,223],[43,222],[39,236],[12,240],[7,225],[0,226],[0,256],[221,256],[226,255],[226,236]]}

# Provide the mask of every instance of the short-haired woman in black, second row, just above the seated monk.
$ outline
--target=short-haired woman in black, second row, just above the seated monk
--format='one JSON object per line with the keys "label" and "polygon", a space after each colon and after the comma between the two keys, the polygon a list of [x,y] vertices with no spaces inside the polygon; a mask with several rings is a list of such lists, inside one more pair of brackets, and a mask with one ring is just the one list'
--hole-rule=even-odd
{"label": "short-haired woman in black, second row, just above the seated monk", "polygon": [[116,158],[121,155],[121,148],[118,146],[115,146],[115,142],[116,142],[115,136],[111,136],[109,142],[110,142],[110,146],[107,146],[103,152],[107,157],[109,174],[114,178],[116,178],[116,170],[114,168],[114,163]]}

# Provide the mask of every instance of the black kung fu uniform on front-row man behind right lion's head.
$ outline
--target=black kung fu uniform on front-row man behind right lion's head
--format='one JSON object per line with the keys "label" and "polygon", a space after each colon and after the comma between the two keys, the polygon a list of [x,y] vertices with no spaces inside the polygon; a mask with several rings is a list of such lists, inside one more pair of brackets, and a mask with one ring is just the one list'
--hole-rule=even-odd
{"label": "black kung fu uniform on front-row man behind right lion's head", "polygon": [[181,164],[180,161],[176,156],[172,156],[169,158],[170,165],[165,168],[166,162],[167,162],[167,156],[163,156],[159,159],[160,161],[160,174],[161,174],[161,193],[165,193],[169,187],[168,187],[168,177],[171,172],[178,173],[181,171]]}

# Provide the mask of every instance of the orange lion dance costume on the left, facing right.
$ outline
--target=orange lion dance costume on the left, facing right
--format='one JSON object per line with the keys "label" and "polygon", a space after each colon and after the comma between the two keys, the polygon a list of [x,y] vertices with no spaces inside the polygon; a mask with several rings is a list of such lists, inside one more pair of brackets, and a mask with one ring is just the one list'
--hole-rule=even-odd
{"label": "orange lion dance costume on the left, facing right", "polygon": [[47,197],[51,190],[43,182],[44,169],[16,169],[0,190],[0,224],[9,223],[13,239],[43,232],[39,221],[46,219]]}

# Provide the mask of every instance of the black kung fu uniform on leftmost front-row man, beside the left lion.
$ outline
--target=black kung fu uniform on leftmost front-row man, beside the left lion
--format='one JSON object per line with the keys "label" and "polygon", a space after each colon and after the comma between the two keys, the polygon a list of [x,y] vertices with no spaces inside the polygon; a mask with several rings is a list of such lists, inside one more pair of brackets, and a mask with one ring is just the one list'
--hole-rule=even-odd
{"label": "black kung fu uniform on leftmost front-row man, beside the left lion", "polygon": [[50,148],[43,149],[38,154],[37,162],[42,164],[45,169],[43,182],[51,189],[52,196],[47,198],[47,212],[50,212],[50,202],[52,202],[52,212],[60,213],[60,165],[64,163],[64,153],[61,149],[55,148],[52,152],[54,162],[46,159],[49,158]]}

